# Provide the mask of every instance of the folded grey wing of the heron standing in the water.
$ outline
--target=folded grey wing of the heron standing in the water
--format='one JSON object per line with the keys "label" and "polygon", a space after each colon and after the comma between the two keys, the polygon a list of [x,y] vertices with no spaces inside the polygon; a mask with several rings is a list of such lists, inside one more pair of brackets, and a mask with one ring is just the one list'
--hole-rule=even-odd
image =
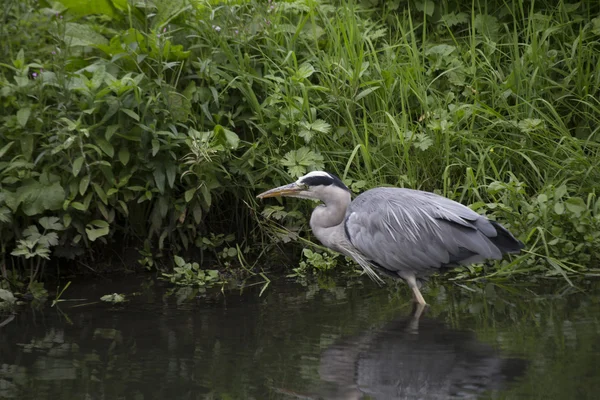
{"label": "folded grey wing of the heron standing in the water", "polygon": [[499,228],[510,235],[462,204],[398,188],[361,194],[348,207],[345,221],[350,242],[366,258],[391,272],[417,276],[447,265],[501,258],[504,249],[492,242]]}

